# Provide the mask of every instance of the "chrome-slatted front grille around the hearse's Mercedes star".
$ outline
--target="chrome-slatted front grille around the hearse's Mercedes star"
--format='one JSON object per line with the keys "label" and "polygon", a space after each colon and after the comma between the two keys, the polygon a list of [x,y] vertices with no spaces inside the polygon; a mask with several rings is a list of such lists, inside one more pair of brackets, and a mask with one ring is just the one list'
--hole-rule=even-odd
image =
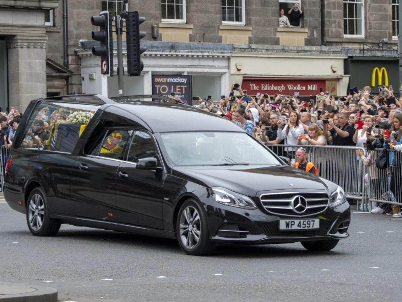
{"label": "chrome-slatted front grille around the hearse's Mercedes star", "polygon": [[[281,196],[283,196],[283,199]],[[293,205],[293,201],[298,197],[306,201],[304,211],[295,209],[296,206]],[[307,217],[324,212],[328,207],[329,198],[329,194],[322,192],[281,192],[262,194],[260,201],[265,210],[271,214],[287,217]]]}

